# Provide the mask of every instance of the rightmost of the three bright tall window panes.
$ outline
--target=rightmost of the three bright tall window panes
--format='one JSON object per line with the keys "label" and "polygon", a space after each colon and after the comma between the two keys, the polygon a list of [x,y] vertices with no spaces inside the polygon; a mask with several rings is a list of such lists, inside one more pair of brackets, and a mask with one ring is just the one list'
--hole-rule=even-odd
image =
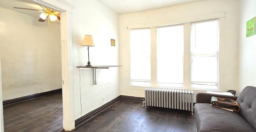
{"label": "rightmost of the three bright tall window panes", "polygon": [[191,87],[218,89],[218,23],[191,24]]}

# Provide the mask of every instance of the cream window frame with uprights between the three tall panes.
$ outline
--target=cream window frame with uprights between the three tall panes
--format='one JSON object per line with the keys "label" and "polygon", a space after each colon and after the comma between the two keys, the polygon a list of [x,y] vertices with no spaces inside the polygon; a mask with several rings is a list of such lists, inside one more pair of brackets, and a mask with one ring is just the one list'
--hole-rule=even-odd
{"label": "cream window frame with uprights between the three tall panes", "polygon": [[[180,19],[180,20],[175,20],[173,22],[173,20],[168,20],[165,22],[153,22],[153,23],[148,23],[148,24],[137,24],[137,25],[133,25],[133,26],[128,26],[127,29],[139,29],[139,28],[150,28],[151,29],[151,87],[158,87],[157,83],[156,83],[156,50],[154,50],[156,48],[156,27],[159,26],[171,26],[171,25],[175,25],[172,23],[178,23],[178,24],[182,24],[182,22],[184,22],[184,38],[186,38],[186,36],[190,36],[190,30],[186,30],[186,28],[190,29],[190,24],[194,23],[194,22],[201,22],[201,21],[207,21],[207,20],[216,20],[219,19],[219,32],[220,32],[220,39],[219,39],[219,72],[218,72],[218,77],[219,79],[218,81],[218,90],[216,91],[223,91],[224,90],[224,31],[225,31],[225,12],[219,12],[219,13],[214,13],[214,14],[209,14],[209,15],[202,15],[202,16],[196,16],[196,17],[192,17],[190,18],[191,20],[184,20],[184,19]],[[180,21],[180,22],[179,22]],[[169,23],[169,24],[168,24]],[[177,25],[178,25],[177,24]],[[128,36],[129,36],[129,32]],[[190,37],[189,37],[190,38]],[[129,40],[128,40],[129,41]],[[189,43],[189,44],[186,44]],[[186,47],[188,46],[188,47]],[[197,88],[192,88],[191,87],[191,80],[190,80],[190,74],[186,74],[186,73],[190,73],[190,65],[187,65],[186,62],[190,62],[190,39],[184,40],[184,87],[183,89],[192,89],[192,90],[199,90],[199,91],[209,91],[209,89],[197,89]],[[136,86],[132,86],[132,85],[128,85],[128,89],[135,89],[135,90],[143,90],[145,89],[147,86],[140,86],[140,87],[136,87]]]}

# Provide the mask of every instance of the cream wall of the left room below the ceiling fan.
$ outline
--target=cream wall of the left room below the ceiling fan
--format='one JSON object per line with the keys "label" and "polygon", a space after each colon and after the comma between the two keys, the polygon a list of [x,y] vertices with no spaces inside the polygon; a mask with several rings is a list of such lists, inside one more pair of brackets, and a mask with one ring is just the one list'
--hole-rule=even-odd
{"label": "cream wall of the left room below the ceiling fan", "polygon": [[3,100],[62,88],[60,25],[38,19],[0,8]]}

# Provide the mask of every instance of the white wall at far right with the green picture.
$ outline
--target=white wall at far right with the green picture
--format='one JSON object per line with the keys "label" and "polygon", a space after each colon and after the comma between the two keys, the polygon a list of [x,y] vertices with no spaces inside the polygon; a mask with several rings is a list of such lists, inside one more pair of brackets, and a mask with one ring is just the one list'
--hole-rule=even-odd
{"label": "white wall at far right with the green picture", "polygon": [[255,0],[240,0],[239,92],[256,87],[256,35],[246,37],[246,22],[256,16]]}

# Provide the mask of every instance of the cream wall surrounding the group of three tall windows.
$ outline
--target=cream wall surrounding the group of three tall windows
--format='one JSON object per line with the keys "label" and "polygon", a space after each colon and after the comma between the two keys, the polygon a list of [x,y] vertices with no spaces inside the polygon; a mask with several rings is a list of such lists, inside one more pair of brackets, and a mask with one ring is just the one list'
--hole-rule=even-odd
{"label": "cream wall surrounding the group of three tall windows", "polygon": [[220,91],[238,89],[238,14],[236,0],[205,0],[157,10],[120,16],[120,87],[121,95],[144,97],[145,87],[130,86],[130,45],[127,28],[144,28],[182,22],[195,22],[225,12],[221,21]]}

